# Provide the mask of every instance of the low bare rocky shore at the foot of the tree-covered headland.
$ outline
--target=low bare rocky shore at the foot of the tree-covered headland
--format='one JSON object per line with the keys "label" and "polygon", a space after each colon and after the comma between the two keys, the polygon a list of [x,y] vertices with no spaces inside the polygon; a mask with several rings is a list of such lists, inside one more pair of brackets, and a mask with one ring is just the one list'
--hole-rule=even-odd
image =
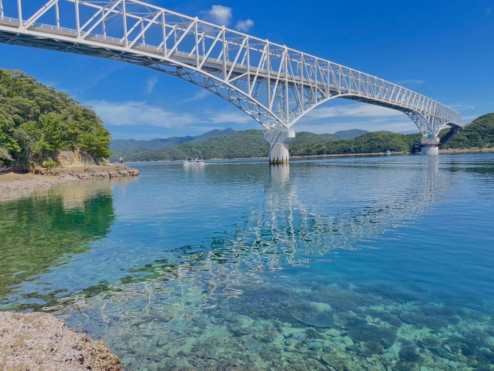
{"label": "low bare rocky shore at the foot of the tree-covered headland", "polygon": [[135,177],[138,175],[139,170],[122,164],[80,165],[51,169],[36,168],[34,172],[28,174],[13,172],[0,174],[0,192],[41,188],[83,179]]}

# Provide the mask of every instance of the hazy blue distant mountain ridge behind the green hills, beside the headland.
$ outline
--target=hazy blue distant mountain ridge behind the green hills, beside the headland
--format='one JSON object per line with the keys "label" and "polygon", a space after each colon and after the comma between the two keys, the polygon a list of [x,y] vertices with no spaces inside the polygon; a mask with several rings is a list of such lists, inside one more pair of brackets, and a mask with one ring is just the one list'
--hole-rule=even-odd
{"label": "hazy blue distant mountain ridge behind the green hills, beside the headland", "polygon": [[155,138],[151,140],[135,140],[135,139],[114,139],[110,144],[110,149],[116,151],[124,147],[140,147],[144,149],[156,149],[165,148],[170,145],[179,145],[188,141],[201,141],[212,137],[222,137],[235,133],[235,130],[227,128],[225,130],[211,130],[210,132],[197,135],[194,137],[168,137],[168,138]]}

